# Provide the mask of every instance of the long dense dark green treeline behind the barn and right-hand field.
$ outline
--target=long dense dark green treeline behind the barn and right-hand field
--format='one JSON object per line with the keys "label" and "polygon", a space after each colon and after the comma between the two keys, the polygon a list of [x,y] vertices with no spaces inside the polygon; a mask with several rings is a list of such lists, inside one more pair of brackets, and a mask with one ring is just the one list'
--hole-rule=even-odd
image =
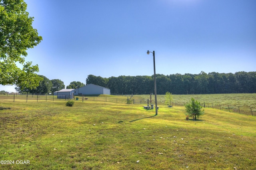
{"label": "long dense dark green treeline behind the barn and right-hand field", "polygon": [[[112,94],[150,94],[154,93],[154,75],[118,76],[103,78],[88,75],[86,84],[95,84],[109,88]],[[236,73],[205,73],[184,75],[156,74],[157,94],[167,91],[172,94],[220,94],[220,93],[256,93],[256,71]]]}

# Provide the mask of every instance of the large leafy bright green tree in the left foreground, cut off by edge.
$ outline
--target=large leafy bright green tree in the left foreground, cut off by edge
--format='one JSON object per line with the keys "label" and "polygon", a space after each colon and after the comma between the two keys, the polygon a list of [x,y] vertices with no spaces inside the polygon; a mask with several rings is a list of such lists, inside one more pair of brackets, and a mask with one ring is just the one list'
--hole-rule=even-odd
{"label": "large leafy bright green tree in the left foreground, cut off by edge", "polygon": [[35,88],[42,80],[35,73],[38,65],[24,59],[26,50],[42,40],[26,8],[23,0],[0,0],[0,84],[17,85],[19,89]]}

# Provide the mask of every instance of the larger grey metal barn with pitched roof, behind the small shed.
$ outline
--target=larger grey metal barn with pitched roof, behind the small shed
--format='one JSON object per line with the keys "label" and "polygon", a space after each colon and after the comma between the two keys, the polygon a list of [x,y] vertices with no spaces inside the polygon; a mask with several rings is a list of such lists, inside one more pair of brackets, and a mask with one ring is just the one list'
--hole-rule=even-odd
{"label": "larger grey metal barn with pitched roof, behind the small shed", "polygon": [[79,89],[75,89],[75,95],[110,95],[110,89],[106,87],[101,87],[99,85],[88,84],[84,87],[80,87]]}

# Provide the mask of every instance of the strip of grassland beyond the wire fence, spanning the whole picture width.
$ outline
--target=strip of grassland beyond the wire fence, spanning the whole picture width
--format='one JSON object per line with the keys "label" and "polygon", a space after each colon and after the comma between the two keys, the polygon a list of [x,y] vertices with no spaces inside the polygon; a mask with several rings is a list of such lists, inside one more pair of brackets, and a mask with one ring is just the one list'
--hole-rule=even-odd
{"label": "strip of grassland beyond the wire fence, spanning the whole picture width", "polygon": [[[164,96],[158,95],[158,105],[164,105]],[[82,96],[79,100],[82,100]],[[113,103],[126,103],[127,97],[131,100],[134,99],[135,104],[148,103],[150,95],[88,95],[86,98],[90,101],[105,101]],[[174,101],[172,105],[184,106],[189,102],[191,97],[198,100],[203,107],[220,109],[222,111],[241,113],[244,115],[256,116],[256,93],[243,93],[243,94],[211,94],[211,95],[173,95]],[[0,95],[1,102],[51,102],[68,99],[57,99],[53,95]],[[152,95],[154,101],[154,95]],[[133,102],[132,102],[133,103]]]}

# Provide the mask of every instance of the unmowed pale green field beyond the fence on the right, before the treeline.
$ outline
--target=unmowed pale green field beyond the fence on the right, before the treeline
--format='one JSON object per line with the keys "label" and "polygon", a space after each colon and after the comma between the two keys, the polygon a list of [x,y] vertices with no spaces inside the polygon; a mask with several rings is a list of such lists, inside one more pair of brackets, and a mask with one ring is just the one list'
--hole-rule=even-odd
{"label": "unmowed pale green field beyond the fence on the right, before the treeline", "polygon": [[[164,96],[157,95],[158,105],[164,105]],[[199,101],[203,107],[221,109],[241,113],[244,115],[256,116],[256,93],[241,94],[211,94],[211,95],[173,95],[173,105],[184,105],[191,98]],[[142,103],[147,103],[150,95],[134,95],[134,99],[142,99]],[[154,100],[154,95],[152,95]]]}

